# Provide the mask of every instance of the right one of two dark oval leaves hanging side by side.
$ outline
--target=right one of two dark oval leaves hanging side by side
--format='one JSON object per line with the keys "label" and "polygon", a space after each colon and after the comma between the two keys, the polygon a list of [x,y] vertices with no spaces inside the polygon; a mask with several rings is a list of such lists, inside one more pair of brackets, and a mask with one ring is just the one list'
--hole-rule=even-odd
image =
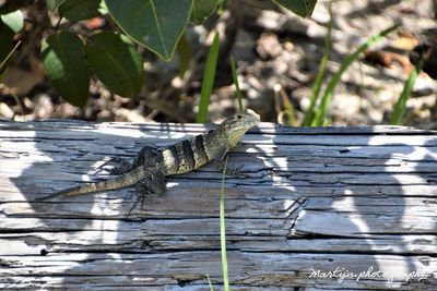
{"label": "right one of two dark oval leaves hanging side by side", "polygon": [[141,54],[132,43],[114,33],[99,33],[88,38],[85,46],[91,68],[114,93],[133,96],[144,81]]}

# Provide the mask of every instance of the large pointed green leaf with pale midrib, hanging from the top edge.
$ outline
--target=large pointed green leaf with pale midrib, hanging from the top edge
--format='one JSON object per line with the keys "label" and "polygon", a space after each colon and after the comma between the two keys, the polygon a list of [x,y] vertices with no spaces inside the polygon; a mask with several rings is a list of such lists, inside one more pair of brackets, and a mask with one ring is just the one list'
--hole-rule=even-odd
{"label": "large pointed green leaf with pale midrib, hanging from the top edge", "polygon": [[190,17],[192,0],[105,0],[117,25],[133,40],[170,60]]}

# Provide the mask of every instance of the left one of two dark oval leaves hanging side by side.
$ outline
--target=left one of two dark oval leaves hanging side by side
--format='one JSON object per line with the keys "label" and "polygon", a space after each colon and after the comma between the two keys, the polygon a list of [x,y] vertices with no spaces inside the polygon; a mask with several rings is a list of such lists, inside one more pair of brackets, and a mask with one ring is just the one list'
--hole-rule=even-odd
{"label": "left one of two dark oval leaves hanging side by side", "polygon": [[42,54],[47,76],[64,100],[84,106],[90,94],[90,70],[82,40],[59,32],[43,43]]}

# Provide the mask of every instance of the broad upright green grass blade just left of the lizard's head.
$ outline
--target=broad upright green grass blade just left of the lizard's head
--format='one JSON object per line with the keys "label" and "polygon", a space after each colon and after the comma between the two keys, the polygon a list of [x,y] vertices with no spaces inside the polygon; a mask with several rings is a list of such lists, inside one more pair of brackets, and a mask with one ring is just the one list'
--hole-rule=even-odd
{"label": "broad upright green grass blade just left of the lizard's head", "polygon": [[210,105],[211,93],[214,86],[215,69],[217,66],[218,58],[220,37],[218,33],[215,34],[214,40],[212,41],[210,52],[208,53],[206,66],[203,74],[202,89],[200,93],[200,105],[199,113],[196,118],[196,122],[206,122],[208,106]]}

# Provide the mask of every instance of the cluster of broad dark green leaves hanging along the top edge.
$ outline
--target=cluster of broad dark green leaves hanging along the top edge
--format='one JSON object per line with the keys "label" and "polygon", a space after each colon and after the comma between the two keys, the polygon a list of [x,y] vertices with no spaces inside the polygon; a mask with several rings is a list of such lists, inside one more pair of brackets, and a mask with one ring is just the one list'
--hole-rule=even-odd
{"label": "cluster of broad dark green leaves hanging along the top edge", "polygon": [[[316,0],[277,1],[302,16],[311,14]],[[165,61],[175,53],[187,25],[201,24],[217,8],[218,0],[46,0],[57,13],[54,27],[47,27],[42,43],[44,69],[64,100],[84,106],[94,73],[109,90],[129,97],[143,85],[144,71],[135,45],[145,47]],[[23,27],[20,5],[0,11],[0,60],[13,51],[13,37]],[[118,29],[80,35],[60,29],[63,19],[74,22],[109,15]],[[7,65],[2,65],[4,72]]]}

